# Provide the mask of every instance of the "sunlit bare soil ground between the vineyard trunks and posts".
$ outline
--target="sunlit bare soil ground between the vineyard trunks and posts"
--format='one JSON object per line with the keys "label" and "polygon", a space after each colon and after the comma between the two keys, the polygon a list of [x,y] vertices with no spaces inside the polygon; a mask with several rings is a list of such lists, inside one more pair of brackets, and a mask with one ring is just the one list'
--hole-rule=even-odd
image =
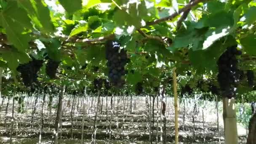
{"label": "sunlit bare soil ground between the vineyard trunks and posts", "polygon": [[[115,106],[113,109],[113,120],[110,122],[111,112],[110,112],[110,97],[108,98],[108,116],[106,99],[104,98],[102,112],[101,107],[99,107],[98,120],[96,123],[96,143],[97,144],[149,144],[149,131],[147,123],[147,109],[144,97],[137,97],[133,100],[133,112],[130,112],[130,100],[122,102],[122,99],[118,103],[117,109],[117,99],[115,98]],[[80,100],[81,101],[81,100]],[[88,103],[89,102],[89,103]],[[174,107],[172,99],[167,99],[167,109],[166,109],[166,133],[167,133],[167,143],[174,143]],[[37,104],[37,112],[35,114],[33,128],[30,129],[31,111],[32,104],[29,105],[29,100],[25,101],[26,112],[24,114],[17,114],[18,104],[15,104],[15,120],[13,126],[13,144],[37,144],[39,141],[40,134],[40,102]],[[81,104],[80,104],[81,105]],[[91,107],[93,105],[93,107]],[[95,106],[94,106],[95,105]],[[192,123],[192,104],[188,104],[185,110],[185,124],[183,129],[183,105],[180,105],[179,109],[179,144],[218,144],[218,131],[216,124],[216,114],[214,112],[214,107],[210,107],[210,103],[204,110],[204,125],[202,120],[202,109],[199,107],[199,113],[195,117],[195,128],[193,128],[194,123]],[[212,104],[214,105],[214,104]],[[47,109],[47,103],[45,104],[44,113],[44,128],[42,133],[42,144],[50,144],[54,129],[55,121],[55,109],[52,109],[52,118],[49,118],[49,111]],[[70,111],[71,107],[67,105],[67,101],[64,102],[65,110],[62,117],[61,126],[61,144],[80,144],[81,131],[82,131],[82,120],[83,120],[83,109],[81,106],[75,105],[75,113],[73,116],[73,139],[71,140],[71,117]],[[125,106],[125,109],[124,109]],[[5,107],[6,103],[3,105],[2,112],[0,113],[0,144],[8,144],[9,136],[11,133],[11,104],[8,108],[8,117],[6,119],[5,128]],[[85,131],[84,139],[86,144],[91,143],[91,136],[93,133],[93,120],[95,115],[96,104],[91,104],[91,101],[87,101],[85,106]],[[159,105],[160,107],[160,105]],[[157,132],[157,106],[155,102],[155,123],[152,126],[153,129],[153,144],[156,144],[156,132]],[[117,112],[117,113],[116,113]],[[117,117],[118,114],[118,117]],[[160,109],[159,109],[160,115]],[[224,144],[224,132],[223,125],[220,120],[220,131],[221,131],[221,144]],[[163,121],[158,117],[158,141],[161,140],[160,134],[163,131]],[[18,126],[17,126],[18,123]],[[112,137],[109,139],[109,125],[112,129]],[[194,140],[194,129],[195,129],[195,140]],[[205,136],[203,135],[205,131]],[[239,132],[239,143],[245,144],[245,130],[238,125]],[[31,135],[30,135],[31,133]],[[17,137],[16,137],[17,136]],[[205,138],[205,141],[204,141]]]}

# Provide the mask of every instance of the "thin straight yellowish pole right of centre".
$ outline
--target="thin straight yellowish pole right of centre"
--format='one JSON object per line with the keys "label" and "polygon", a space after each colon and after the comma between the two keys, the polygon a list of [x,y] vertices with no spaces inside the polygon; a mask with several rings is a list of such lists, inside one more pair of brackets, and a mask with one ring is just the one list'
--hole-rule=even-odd
{"label": "thin straight yellowish pole right of centre", "polygon": [[173,68],[173,96],[175,109],[175,144],[179,143],[179,124],[178,124],[178,96],[177,96],[177,75],[176,67]]}

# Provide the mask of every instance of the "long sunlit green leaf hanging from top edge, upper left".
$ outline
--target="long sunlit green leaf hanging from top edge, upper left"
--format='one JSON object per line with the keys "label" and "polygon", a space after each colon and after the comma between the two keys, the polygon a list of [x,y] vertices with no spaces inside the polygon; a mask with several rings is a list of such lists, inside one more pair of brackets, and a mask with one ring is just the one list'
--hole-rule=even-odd
{"label": "long sunlit green leaf hanging from top edge, upper left", "polygon": [[18,0],[42,32],[54,32],[50,11],[43,0]]}

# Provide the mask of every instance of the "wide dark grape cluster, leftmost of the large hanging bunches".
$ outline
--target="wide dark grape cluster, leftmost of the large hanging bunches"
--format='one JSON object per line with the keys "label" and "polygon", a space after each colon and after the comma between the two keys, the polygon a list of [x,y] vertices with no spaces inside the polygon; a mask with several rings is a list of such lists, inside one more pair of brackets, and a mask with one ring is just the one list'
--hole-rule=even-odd
{"label": "wide dark grape cluster, leftmost of the large hanging bunches", "polygon": [[21,78],[25,86],[29,87],[37,83],[37,72],[43,66],[43,60],[37,60],[32,57],[32,61],[27,64],[19,64],[17,71],[21,73]]}

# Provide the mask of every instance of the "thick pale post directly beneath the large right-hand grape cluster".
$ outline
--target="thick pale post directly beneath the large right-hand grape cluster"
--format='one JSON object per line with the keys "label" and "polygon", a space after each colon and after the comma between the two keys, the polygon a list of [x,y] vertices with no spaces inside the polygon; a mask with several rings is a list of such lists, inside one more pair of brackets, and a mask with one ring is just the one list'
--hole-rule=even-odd
{"label": "thick pale post directly beneath the large right-hand grape cluster", "polygon": [[235,99],[223,98],[225,144],[238,144]]}

